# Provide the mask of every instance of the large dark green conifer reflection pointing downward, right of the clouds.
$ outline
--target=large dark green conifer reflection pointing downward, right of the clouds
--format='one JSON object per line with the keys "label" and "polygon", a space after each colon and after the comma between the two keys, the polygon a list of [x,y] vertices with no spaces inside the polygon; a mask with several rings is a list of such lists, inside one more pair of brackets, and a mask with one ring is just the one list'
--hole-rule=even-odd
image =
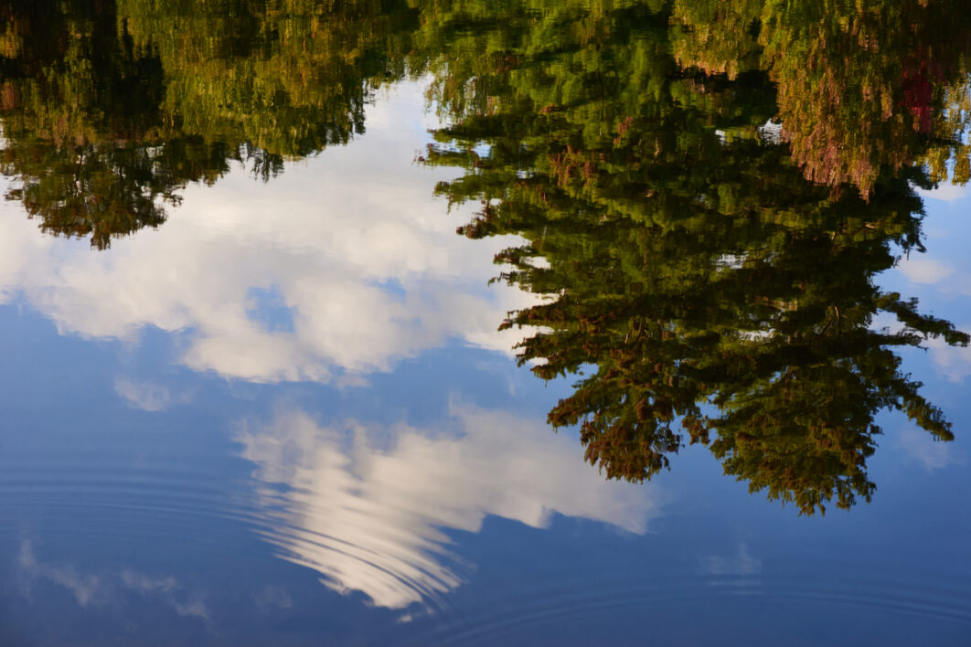
{"label": "large dark green conifer reflection pointing downward, right of the clouds", "polygon": [[[519,360],[539,376],[583,375],[550,421],[579,424],[592,463],[650,478],[686,436],[812,513],[869,501],[877,411],[952,437],[893,348],[968,337],[874,282],[921,246],[924,171],[881,159],[863,196],[807,181],[756,128],[777,110],[770,79],[682,71],[677,30],[645,4],[488,22],[485,5],[454,6],[436,25],[452,49],[432,62],[452,125],[427,161],[465,169],[439,186],[450,201],[482,202],[460,232],[525,239],[496,260],[549,299],[504,327],[538,327]],[[908,154],[954,146],[914,132]],[[895,326],[876,329],[881,315]]]}

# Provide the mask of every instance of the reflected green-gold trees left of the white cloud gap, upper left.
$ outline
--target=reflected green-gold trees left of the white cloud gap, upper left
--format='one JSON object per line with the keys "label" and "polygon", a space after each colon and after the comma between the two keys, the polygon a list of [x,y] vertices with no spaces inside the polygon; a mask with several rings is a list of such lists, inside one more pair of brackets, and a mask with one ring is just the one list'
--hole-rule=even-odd
{"label": "reflected green-gold trees left of the white cloud gap, upper left", "polygon": [[188,181],[363,131],[370,90],[400,78],[406,3],[273,0],[0,3],[2,171],[53,233],[155,226]]}

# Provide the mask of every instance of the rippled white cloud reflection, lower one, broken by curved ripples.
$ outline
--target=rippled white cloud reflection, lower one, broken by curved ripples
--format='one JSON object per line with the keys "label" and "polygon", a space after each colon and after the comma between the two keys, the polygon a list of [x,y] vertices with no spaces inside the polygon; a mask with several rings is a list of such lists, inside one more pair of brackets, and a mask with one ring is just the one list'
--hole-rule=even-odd
{"label": "rippled white cloud reflection, lower one, broken by curved ripples", "polygon": [[325,427],[299,411],[245,425],[266,539],[325,586],[402,608],[462,583],[469,565],[445,529],[478,532],[486,515],[542,528],[555,512],[644,533],[656,513],[652,485],[605,480],[545,424],[467,405],[452,405],[452,422],[460,437]]}

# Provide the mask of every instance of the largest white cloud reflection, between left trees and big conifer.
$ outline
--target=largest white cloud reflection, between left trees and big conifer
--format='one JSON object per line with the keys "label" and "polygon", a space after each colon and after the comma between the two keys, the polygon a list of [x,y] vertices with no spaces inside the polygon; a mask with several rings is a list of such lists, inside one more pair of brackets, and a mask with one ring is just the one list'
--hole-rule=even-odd
{"label": "largest white cloud reflection, between left trees and big conifer", "polygon": [[[107,252],[42,236],[6,203],[17,213],[0,218],[0,300],[21,298],[62,334],[179,334],[185,366],[257,382],[347,382],[450,339],[509,352],[517,333],[495,329],[528,297],[485,287],[509,242],[455,235],[469,212],[432,197],[443,172],[413,164],[426,136],[398,125],[423,122],[422,101],[402,86],[372,109],[367,136],[268,183],[237,170],[189,186],[168,222]],[[259,295],[272,295],[269,314]],[[164,407],[128,386],[134,404]]]}

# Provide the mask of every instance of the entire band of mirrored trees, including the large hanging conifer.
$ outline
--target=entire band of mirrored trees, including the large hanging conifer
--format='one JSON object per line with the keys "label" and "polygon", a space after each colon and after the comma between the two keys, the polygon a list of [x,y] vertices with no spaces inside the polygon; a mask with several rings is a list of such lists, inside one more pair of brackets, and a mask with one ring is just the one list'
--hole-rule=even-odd
{"label": "entire band of mirrored trees, including the large hanging conifer", "polygon": [[[49,233],[158,226],[188,182],[347,144],[430,79],[436,191],[515,234],[521,364],[583,372],[550,413],[644,480],[685,442],[801,512],[876,488],[878,411],[952,437],[894,349],[967,335],[877,275],[921,249],[915,187],[965,182],[960,2],[0,5],[2,171]],[[943,45],[942,45],[943,44]],[[886,328],[881,324],[892,320]]]}

